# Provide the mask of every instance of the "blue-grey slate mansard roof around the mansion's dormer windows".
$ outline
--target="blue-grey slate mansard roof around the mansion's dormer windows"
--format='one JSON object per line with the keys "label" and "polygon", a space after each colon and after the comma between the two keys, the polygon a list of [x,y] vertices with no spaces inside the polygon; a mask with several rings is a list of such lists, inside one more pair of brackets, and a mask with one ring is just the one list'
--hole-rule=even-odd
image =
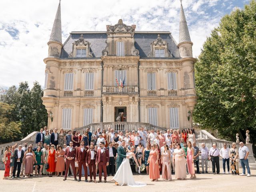
{"label": "blue-grey slate mansard roof around the mansion's dormer windows", "polygon": [[[102,56],[102,50],[106,48],[106,32],[71,32],[70,36],[63,44],[60,58],[68,58],[68,55],[72,52],[72,43],[78,40],[81,34],[83,34],[85,40],[90,42],[90,52],[92,52],[93,57],[99,58]],[[140,51],[140,57],[148,57],[148,53],[151,50],[150,44],[152,41],[156,40],[158,34],[160,34],[161,38],[168,43],[168,49],[172,53],[173,57],[180,58],[177,43],[170,34],[170,32],[135,32],[134,46]]]}

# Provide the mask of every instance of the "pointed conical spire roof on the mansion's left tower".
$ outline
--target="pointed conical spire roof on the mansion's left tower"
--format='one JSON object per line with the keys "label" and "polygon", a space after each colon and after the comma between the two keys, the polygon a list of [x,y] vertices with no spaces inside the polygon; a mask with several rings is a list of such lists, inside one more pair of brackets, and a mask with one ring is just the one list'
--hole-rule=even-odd
{"label": "pointed conical spire roof on the mansion's left tower", "polygon": [[56,16],[54,19],[54,23],[52,26],[52,33],[50,36],[50,40],[49,41],[57,41],[62,43],[62,34],[61,34],[61,14],[60,14],[60,3],[58,5],[58,9],[56,12]]}

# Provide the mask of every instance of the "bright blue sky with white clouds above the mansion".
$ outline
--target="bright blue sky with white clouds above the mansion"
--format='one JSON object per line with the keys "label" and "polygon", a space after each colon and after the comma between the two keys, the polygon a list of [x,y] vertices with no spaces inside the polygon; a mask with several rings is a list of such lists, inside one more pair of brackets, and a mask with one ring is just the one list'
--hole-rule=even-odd
{"label": "bright blue sky with white clouds above the mansion", "polygon": [[[250,0],[183,0],[193,55],[220,19]],[[122,17],[136,31],[170,31],[178,42],[180,0],[61,0],[62,43],[71,31],[106,31]],[[0,89],[34,81],[44,86],[47,42],[59,0],[0,1]]]}

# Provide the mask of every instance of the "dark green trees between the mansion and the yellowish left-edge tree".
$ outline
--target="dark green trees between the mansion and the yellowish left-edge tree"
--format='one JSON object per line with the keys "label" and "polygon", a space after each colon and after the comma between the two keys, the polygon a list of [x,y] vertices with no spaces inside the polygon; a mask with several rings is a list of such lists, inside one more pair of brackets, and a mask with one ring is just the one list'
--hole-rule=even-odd
{"label": "dark green trees between the mansion and the yellowish left-edge tree", "polygon": [[29,89],[28,82],[21,82],[18,89],[11,86],[1,95],[0,101],[11,106],[5,116],[8,122],[18,122],[19,136],[8,142],[26,137],[33,131],[47,125],[47,111],[42,104],[43,90],[38,82]]}

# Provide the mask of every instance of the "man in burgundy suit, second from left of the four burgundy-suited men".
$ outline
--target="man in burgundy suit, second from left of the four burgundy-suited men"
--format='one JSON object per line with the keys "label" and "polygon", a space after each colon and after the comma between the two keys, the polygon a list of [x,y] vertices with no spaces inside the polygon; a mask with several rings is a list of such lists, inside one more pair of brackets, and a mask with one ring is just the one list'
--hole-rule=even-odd
{"label": "man in burgundy suit, second from left of the four burgundy-suited men", "polygon": [[82,166],[84,166],[84,176],[85,176],[85,182],[88,182],[87,180],[87,166],[85,163],[86,159],[86,151],[88,150],[87,146],[84,146],[84,141],[80,142],[80,147],[76,148],[76,162],[78,162],[78,182],[81,181],[82,177]]}

